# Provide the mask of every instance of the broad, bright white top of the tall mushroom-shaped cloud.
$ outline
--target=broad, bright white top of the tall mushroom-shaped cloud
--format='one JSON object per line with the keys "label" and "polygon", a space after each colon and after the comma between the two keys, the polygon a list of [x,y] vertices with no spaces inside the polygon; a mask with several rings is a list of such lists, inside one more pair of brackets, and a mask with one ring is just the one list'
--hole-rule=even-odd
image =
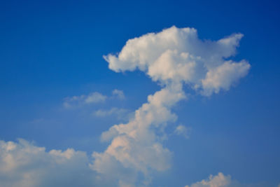
{"label": "broad, bright white top of the tall mushroom-shaped cloud", "polygon": [[171,27],[157,34],[145,34],[127,41],[118,55],[106,55],[113,71],[140,69],[153,81],[167,84],[183,81],[202,95],[228,90],[246,76],[246,60],[225,60],[235,55],[243,34],[232,34],[218,41],[201,41],[197,30]]}

